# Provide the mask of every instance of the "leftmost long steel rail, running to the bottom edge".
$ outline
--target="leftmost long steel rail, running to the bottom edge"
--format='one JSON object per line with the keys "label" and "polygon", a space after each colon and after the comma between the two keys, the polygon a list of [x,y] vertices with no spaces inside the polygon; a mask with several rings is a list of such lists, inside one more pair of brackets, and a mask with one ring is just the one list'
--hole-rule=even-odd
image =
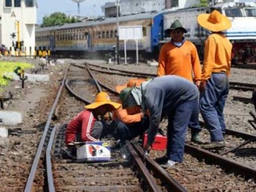
{"label": "leftmost long steel rail, running to the bottom edge", "polygon": [[49,116],[48,116],[48,119],[47,119],[47,122],[46,122],[46,126],[44,127],[42,138],[41,138],[40,143],[38,145],[38,150],[35,154],[35,159],[33,161],[32,168],[29,172],[29,177],[26,181],[26,187],[24,189],[25,192],[32,191],[32,185],[33,185],[33,182],[34,182],[34,179],[35,179],[35,172],[38,168],[39,159],[40,159],[40,156],[41,156],[42,151],[43,151],[43,144],[46,141],[46,135],[47,135],[50,123],[51,123],[51,118],[52,118],[52,115],[54,114],[55,107],[57,106],[57,103],[59,102],[60,95],[61,95],[63,87],[64,87],[64,82],[65,82],[67,72],[68,72],[68,69],[65,71],[65,74],[64,74],[64,77],[63,77],[63,82],[60,85],[60,89],[58,90],[56,99],[54,100],[54,104],[51,107],[51,110],[50,110],[50,113],[49,113]]}

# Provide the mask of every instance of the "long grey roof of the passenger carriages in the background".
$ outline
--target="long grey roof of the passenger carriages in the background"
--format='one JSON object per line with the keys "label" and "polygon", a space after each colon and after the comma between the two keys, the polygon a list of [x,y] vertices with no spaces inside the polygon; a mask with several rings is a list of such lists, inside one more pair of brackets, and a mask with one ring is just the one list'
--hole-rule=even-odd
{"label": "long grey roof of the passenger carriages in the background", "polygon": [[[155,15],[157,15],[156,12],[140,13],[140,14],[134,14],[134,15],[123,15],[118,17],[118,22],[143,20],[147,18],[153,18]],[[84,26],[96,26],[99,24],[113,24],[113,23],[116,23],[116,18],[99,18],[92,21],[82,21],[74,24],[63,24],[61,26],[38,27],[35,29],[35,31],[46,32],[49,30],[51,31],[51,30],[60,30],[60,29],[72,29],[72,28],[79,28]]]}

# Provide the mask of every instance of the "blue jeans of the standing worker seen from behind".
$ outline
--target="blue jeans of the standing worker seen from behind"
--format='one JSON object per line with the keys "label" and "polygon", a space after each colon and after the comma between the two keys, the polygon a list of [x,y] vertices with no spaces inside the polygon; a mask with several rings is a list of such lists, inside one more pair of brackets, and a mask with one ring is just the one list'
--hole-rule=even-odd
{"label": "blue jeans of the standing worker seen from behind", "polygon": [[230,90],[226,74],[212,74],[206,83],[205,91],[200,93],[199,107],[202,118],[210,132],[211,141],[223,141],[226,132],[223,110]]}

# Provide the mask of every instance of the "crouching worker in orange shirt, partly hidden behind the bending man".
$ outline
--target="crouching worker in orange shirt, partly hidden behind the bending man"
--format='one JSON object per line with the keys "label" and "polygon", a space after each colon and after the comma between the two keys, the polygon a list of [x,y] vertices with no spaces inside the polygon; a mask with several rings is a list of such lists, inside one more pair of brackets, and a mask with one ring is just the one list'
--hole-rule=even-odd
{"label": "crouching worker in orange shirt, partly hidden behind the bending man", "polygon": [[[118,85],[115,90],[120,93],[124,88],[132,88],[133,86],[141,85],[146,79],[129,79],[126,85]],[[121,103],[121,100],[118,102]],[[141,111],[138,105],[122,108],[119,107],[113,113],[115,119],[116,131],[115,139],[121,141],[121,146],[124,145],[126,140],[131,140],[139,135],[142,135],[149,127],[149,116]]]}

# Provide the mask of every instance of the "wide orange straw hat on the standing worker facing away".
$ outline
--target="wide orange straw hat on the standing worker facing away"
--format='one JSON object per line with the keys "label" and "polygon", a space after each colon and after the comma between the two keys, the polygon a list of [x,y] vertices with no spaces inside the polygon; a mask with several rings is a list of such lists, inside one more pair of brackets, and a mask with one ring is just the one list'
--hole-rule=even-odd
{"label": "wide orange straw hat on the standing worker facing away", "polygon": [[199,25],[212,32],[221,32],[231,27],[231,21],[225,15],[222,15],[218,10],[213,10],[212,13],[202,13],[197,16]]}

